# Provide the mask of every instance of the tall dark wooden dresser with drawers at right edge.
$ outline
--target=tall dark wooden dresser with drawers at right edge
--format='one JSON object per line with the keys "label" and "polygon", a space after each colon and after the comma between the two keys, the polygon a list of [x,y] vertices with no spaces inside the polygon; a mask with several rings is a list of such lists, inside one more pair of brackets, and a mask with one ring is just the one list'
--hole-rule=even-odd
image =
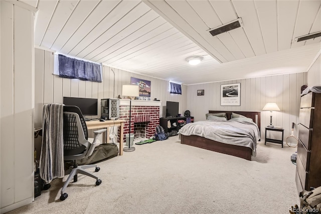
{"label": "tall dark wooden dresser with drawers at right edge", "polygon": [[321,186],[321,93],[301,96],[295,183],[298,193]]}

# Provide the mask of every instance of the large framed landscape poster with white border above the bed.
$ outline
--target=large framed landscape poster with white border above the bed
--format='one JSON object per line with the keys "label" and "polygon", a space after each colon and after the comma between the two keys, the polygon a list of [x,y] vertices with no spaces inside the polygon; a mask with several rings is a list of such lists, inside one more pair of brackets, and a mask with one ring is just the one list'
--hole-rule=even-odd
{"label": "large framed landscape poster with white border above the bed", "polygon": [[241,83],[221,85],[221,105],[241,105]]}

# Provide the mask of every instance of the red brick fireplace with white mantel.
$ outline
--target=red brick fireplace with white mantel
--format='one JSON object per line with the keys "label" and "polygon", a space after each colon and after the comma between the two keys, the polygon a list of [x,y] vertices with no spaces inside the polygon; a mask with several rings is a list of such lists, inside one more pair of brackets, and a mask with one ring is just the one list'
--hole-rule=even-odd
{"label": "red brick fireplace with white mantel", "polygon": [[[131,100],[131,134],[134,137],[150,139],[159,125],[160,101]],[[129,99],[120,99],[119,119],[125,120],[123,139],[129,134]],[[119,136],[119,133],[118,133]]]}

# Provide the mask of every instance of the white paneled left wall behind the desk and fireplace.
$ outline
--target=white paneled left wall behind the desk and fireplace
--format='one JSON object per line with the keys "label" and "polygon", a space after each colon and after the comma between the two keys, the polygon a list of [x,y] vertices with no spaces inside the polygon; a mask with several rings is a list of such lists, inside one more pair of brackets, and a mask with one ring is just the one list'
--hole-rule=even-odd
{"label": "white paneled left wall behind the desk and fireplace", "polygon": [[[123,84],[130,84],[130,77],[136,77],[151,81],[151,99],[162,101],[161,117],[166,114],[166,101],[178,101],[179,112],[184,114],[186,110],[187,86],[182,85],[182,94],[171,94],[169,82],[162,79],[143,76],[140,74],[123,71],[116,68],[103,66],[103,82],[82,81],[78,79],[61,78],[53,75],[54,53],[35,48],[35,127],[42,126],[42,108],[47,103],[62,103],[64,96],[86,98],[110,98],[120,94]],[[115,75],[114,75],[115,74]],[[99,102],[100,103],[100,102]],[[100,117],[100,104],[98,103],[98,117]],[[92,118],[97,118],[93,116]],[[35,139],[37,151],[41,148],[41,138]],[[40,154],[37,154],[39,158]]]}

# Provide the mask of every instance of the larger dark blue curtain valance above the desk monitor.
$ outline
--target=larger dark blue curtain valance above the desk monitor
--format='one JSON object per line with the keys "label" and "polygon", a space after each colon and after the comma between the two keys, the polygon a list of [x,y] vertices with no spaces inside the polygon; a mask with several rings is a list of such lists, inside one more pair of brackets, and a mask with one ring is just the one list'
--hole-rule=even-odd
{"label": "larger dark blue curtain valance above the desk monitor", "polygon": [[101,82],[100,65],[58,54],[59,76]]}

